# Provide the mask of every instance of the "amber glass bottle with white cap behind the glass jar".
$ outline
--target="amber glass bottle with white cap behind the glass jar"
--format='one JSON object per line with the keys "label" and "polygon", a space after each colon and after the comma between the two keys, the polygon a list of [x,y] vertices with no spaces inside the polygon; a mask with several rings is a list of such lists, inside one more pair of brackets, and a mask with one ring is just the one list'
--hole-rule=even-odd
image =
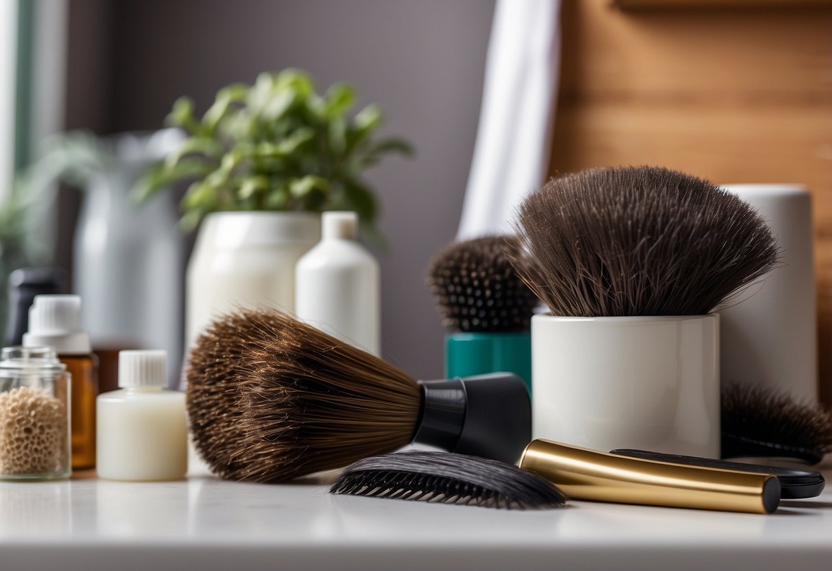
{"label": "amber glass bottle with white cap behind the glass jar", "polygon": [[90,336],[81,330],[81,298],[36,295],[23,345],[51,346],[67,365],[72,375],[72,469],[95,467],[98,361]]}

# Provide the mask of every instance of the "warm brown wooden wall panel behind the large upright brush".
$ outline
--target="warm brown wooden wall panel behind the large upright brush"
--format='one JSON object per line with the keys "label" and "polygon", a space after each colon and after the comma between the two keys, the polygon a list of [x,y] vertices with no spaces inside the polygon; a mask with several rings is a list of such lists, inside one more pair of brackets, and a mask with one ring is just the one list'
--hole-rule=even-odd
{"label": "warm brown wooden wall panel behind the large upright brush", "polygon": [[653,164],[810,187],[820,394],[832,405],[832,10],[564,0],[562,31],[552,174]]}

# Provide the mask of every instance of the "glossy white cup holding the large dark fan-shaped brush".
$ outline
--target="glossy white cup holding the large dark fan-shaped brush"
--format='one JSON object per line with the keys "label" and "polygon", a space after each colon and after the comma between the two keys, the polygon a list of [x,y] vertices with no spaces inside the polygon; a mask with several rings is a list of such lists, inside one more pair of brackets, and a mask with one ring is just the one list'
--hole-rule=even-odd
{"label": "glossy white cup holding the large dark fan-shaped brush", "polygon": [[532,317],[532,438],[719,458],[719,315]]}

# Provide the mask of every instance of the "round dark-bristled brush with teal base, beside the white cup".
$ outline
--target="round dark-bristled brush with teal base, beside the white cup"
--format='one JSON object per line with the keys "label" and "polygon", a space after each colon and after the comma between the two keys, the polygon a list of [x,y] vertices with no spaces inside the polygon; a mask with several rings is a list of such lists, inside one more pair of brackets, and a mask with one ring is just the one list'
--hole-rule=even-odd
{"label": "round dark-bristled brush with teal base, beside the white cup", "polygon": [[517,236],[454,242],[433,256],[427,281],[448,328],[445,376],[510,370],[531,389],[529,326],[540,301],[508,255],[521,263]]}

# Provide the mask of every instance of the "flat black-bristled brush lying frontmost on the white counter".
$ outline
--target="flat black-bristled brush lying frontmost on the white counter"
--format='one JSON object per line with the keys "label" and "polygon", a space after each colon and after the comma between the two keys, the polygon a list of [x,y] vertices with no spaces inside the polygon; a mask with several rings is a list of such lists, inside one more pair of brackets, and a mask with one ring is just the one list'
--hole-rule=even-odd
{"label": "flat black-bristled brush lying frontmost on the white counter", "polygon": [[359,460],[344,469],[329,492],[504,509],[566,503],[554,484],[511,464],[421,450]]}

